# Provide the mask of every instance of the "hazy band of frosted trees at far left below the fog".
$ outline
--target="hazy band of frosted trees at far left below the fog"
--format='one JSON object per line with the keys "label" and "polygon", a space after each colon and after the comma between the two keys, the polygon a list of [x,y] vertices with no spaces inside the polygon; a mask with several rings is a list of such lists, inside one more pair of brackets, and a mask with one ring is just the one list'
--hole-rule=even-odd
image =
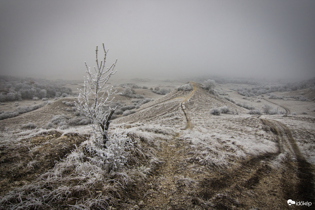
{"label": "hazy band of frosted trees at far left below the fog", "polygon": [[0,76],[0,102],[43,99],[72,94],[70,88],[45,79]]}

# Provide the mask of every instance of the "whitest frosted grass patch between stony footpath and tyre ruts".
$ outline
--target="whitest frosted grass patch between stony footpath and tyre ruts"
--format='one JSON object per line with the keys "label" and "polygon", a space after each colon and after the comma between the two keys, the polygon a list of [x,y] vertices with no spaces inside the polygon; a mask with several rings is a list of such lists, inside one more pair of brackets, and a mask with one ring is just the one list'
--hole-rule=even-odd
{"label": "whitest frosted grass patch between stony footpath and tyre ruts", "polygon": [[[198,162],[209,169],[228,167],[246,156],[257,156],[278,150],[273,141],[264,138],[269,134],[262,128],[255,131],[256,137],[250,132],[243,132],[247,138],[236,135],[237,130],[227,133],[224,129],[209,132],[208,129],[198,127],[198,130],[183,131],[179,138],[187,144],[189,157],[186,161]],[[254,131],[254,129],[250,130]]]}

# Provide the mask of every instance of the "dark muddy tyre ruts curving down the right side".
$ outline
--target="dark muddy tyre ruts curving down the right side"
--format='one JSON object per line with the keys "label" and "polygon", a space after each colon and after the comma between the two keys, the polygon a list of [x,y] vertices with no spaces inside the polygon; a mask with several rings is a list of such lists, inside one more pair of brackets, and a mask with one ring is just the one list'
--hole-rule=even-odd
{"label": "dark muddy tyre ruts curving down the right side", "polygon": [[[209,209],[249,209],[254,204],[260,209],[283,209],[288,207],[288,199],[315,203],[314,167],[301,155],[290,129],[278,121],[261,120],[275,134],[278,152],[252,157],[204,178],[198,195],[209,201]],[[275,170],[268,166],[283,154],[287,159],[282,167]]]}

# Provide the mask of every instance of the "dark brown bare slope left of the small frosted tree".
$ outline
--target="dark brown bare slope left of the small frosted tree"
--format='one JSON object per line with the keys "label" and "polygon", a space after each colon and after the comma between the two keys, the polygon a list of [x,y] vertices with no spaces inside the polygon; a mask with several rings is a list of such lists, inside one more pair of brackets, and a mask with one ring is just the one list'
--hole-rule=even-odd
{"label": "dark brown bare slope left of the small frosted tree", "polygon": [[56,161],[69,154],[86,137],[75,133],[61,136],[60,132],[51,130],[23,139],[18,149],[0,148],[0,196],[31,183],[37,175],[53,168]]}

